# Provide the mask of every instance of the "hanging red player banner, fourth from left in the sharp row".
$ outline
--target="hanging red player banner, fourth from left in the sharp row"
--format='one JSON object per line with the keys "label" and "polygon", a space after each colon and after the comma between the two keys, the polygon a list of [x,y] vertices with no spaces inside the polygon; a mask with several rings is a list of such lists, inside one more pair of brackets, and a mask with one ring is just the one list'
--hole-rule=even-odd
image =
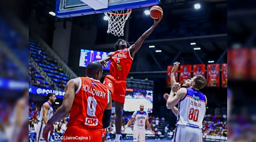
{"label": "hanging red player banner, fourth from left in the sharp row", "polygon": [[220,87],[220,64],[207,64],[207,86]]}

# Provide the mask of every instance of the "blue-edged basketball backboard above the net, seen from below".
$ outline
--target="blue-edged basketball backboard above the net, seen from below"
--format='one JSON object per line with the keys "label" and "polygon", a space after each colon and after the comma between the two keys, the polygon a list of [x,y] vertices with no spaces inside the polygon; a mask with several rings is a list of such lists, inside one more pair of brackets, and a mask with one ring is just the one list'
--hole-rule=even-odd
{"label": "blue-edged basketball backboard above the net, seen from below", "polygon": [[135,9],[159,4],[160,0],[119,0],[108,3],[108,8],[94,10],[80,0],[57,0],[55,14],[59,18],[76,17],[82,15]]}

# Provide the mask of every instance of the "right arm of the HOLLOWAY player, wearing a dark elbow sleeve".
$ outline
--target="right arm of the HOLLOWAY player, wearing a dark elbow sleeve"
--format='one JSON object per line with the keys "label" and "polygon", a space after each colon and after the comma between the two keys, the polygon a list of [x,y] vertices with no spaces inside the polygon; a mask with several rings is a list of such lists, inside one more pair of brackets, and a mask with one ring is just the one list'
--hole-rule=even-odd
{"label": "right arm of the HOLLOWAY player, wearing a dark elbow sleeve", "polygon": [[105,108],[102,116],[102,129],[108,128],[110,124],[110,117],[112,112],[112,93],[108,90],[108,105]]}

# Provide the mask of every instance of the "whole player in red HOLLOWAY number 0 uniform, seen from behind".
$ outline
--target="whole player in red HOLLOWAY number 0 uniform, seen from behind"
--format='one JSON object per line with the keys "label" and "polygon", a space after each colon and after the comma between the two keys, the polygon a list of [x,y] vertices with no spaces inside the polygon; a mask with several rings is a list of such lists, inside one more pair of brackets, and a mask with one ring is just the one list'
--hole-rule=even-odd
{"label": "whole player in red HOLLOWAY number 0 uniform, seen from behind", "polygon": [[49,131],[52,135],[53,123],[67,116],[70,111],[62,142],[101,142],[102,129],[109,126],[112,110],[111,92],[100,83],[102,72],[102,65],[93,61],[86,68],[86,77],[68,81],[61,106],[44,128],[45,140]]}

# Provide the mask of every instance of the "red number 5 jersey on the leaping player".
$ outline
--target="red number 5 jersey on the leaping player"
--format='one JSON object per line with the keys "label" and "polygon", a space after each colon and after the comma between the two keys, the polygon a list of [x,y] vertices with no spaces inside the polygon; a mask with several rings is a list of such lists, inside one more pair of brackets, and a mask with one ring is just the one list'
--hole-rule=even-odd
{"label": "red number 5 jersey on the leaping player", "polygon": [[125,80],[132,66],[129,49],[117,50],[110,57],[110,73],[113,77]]}

